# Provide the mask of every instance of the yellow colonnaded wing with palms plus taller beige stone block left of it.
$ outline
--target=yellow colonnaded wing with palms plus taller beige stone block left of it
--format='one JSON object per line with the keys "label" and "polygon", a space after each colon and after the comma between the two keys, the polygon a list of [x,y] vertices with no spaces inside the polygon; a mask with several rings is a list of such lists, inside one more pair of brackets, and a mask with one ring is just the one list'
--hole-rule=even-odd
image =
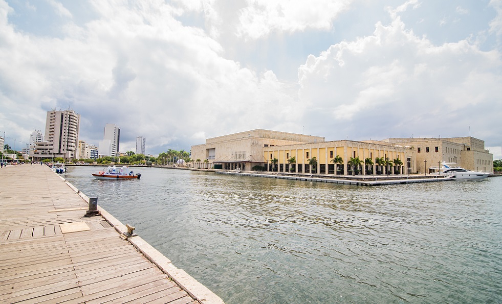
{"label": "yellow colonnaded wing with palms plus taller beige stone block left of it", "polygon": [[[377,141],[325,142],[324,137],[263,129],[209,138],[206,144],[192,146],[191,153],[196,161],[206,160],[206,163],[198,163],[198,167],[226,170],[251,171],[261,166],[267,171],[318,174],[408,174],[417,171],[414,152],[409,147]],[[333,159],[337,156],[342,161],[335,167]],[[310,163],[314,157],[317,165],[312,168]],[[351,158],[359,158],[361,164],[350,164]],[[399,159],[402,165],[377,165],[376,160],[380,158],[391,162]],[[365,159],[371,159],[372,165],[364,166]]]}

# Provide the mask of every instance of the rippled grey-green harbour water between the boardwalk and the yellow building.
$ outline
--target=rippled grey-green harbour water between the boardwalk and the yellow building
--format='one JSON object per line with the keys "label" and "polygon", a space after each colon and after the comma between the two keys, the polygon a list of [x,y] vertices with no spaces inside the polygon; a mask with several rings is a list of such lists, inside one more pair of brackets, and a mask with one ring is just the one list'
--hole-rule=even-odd
{"label": "rippled grey-green harbour water between the boardwalk and the yellow building", "polygon": [[378,187],[66,178],[230,303],[500,303],[502,177]]}

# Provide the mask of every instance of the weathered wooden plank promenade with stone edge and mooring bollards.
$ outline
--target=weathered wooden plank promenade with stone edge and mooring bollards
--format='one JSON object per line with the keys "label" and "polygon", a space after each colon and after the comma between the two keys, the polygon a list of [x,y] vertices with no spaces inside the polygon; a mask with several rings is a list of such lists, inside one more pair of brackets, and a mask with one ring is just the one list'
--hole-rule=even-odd
{"label": "weathered wooden plank promenade with stone edge and mooring bollards", "polygon": [[223,303],[88,202],[47,166],[0,169],[0,303]]}

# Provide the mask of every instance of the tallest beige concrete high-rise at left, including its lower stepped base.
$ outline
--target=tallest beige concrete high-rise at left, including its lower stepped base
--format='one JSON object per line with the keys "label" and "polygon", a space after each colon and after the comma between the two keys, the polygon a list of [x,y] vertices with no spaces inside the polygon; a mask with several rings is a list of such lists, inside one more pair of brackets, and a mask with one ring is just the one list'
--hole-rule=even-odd
{"label": "tallest beige concrete high-rise at left, including its lower stepped base", "polygon": [[62,157],[74,159],[78,144],[80,114],[73,110],[47,112],[43,141],[35,142],[32,157],[35,159]]}

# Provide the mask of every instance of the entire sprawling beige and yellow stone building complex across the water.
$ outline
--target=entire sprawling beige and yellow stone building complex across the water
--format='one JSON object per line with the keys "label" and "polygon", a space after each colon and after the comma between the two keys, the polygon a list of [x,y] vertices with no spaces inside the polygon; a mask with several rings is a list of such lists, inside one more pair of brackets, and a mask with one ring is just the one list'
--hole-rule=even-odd
{"label": "entire sprawling beige and yellow stone building complex across the water", "polygon": [[[251,130],[206,139],[191,147],[195,166],[247,170],[261,166],[267,171],[318,174],[408,174],[431,172],[438,162],[455,162],[468,170],[493,172],[493,154],[485,142],[473,137],[387,138],[383,141],[332,141],[324,137],[270,130]],[[333,161],[339,156],[342,161]],[[310,160],[315,157],[317,166]],[[292,161],[294,158],[294,161]],[[359,158],[356,168],[349,161]],[[377,164],[378,159],[402,165]],[[373,165],[364,165],[365,160]],[[199,160],[199,161],[197,161]],[[354,172],[352,172],[354,171]]]}

